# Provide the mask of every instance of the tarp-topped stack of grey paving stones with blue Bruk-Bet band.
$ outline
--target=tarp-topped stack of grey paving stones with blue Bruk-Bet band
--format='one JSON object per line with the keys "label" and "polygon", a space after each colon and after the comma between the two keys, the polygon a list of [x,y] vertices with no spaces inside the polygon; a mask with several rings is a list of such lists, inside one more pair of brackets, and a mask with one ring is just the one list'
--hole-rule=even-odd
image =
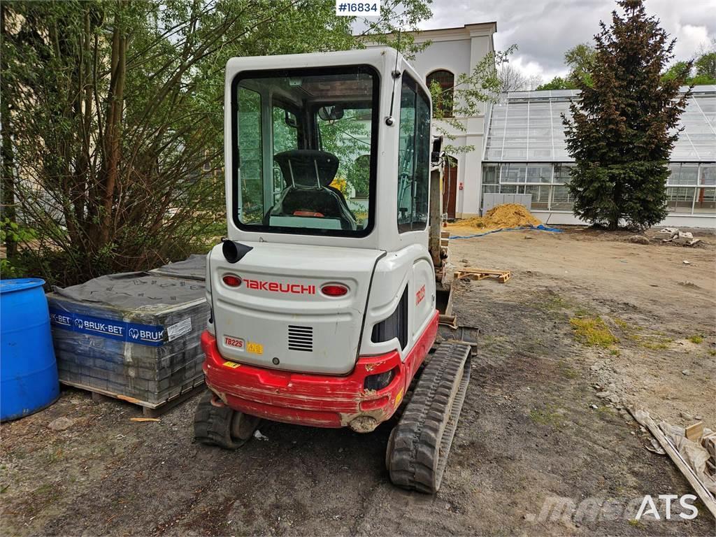
{"label": "tarp-topped stack of grey paving stones with blue Bruk-Bet band", "polygon": [[172,276],[112,274],[47,295],[61,382],[149,408],[203,383],[203,278],[171,264]]}

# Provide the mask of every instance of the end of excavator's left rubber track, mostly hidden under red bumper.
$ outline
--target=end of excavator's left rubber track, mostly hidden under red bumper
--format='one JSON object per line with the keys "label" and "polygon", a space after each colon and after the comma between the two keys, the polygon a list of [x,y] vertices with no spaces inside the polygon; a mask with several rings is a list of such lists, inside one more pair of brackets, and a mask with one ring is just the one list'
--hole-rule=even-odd
{"label": "end of excavator's left rubber track, mostly hidden under red bumper", "polygon": [[194,415],[194,439],[202,444],[236,450],[251,440],[260,421],[261,418],[231,410],[207,391]]}

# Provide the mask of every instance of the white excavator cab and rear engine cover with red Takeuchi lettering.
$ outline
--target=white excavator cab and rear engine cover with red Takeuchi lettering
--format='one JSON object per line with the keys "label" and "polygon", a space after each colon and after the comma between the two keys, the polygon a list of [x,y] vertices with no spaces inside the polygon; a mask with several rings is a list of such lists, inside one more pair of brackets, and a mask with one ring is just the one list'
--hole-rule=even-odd
{"label": "white excavator cab and rear engine cover with red Takeuchi lettering", "polygon": [[229,241],[207,263],[221,356],[329,375],[405,360],[437,326],[422,77],[384,48],[234,58],[225,84]]}

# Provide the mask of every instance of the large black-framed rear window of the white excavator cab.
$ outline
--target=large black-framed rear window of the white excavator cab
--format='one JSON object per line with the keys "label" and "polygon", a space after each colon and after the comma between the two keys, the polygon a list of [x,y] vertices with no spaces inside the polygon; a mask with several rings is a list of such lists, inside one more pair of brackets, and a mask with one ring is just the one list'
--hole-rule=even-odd
{"label": "large black-framed rear window of the white excavator cab", "polygon": [[374,221],[378,97],[372,67],[239,73],[232,92],[236,226],[367,235]]}

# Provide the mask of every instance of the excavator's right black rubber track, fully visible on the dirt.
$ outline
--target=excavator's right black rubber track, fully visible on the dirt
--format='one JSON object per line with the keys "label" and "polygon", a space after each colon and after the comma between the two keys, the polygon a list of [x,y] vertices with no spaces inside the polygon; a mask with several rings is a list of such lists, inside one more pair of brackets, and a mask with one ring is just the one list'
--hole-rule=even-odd
{"label": "excavator's right black rubber track, fully visible on the dirt", "polygon": [[434,494],[440,488],[470,382],[470,346],[440,344],[388,440],[390,480]]}

